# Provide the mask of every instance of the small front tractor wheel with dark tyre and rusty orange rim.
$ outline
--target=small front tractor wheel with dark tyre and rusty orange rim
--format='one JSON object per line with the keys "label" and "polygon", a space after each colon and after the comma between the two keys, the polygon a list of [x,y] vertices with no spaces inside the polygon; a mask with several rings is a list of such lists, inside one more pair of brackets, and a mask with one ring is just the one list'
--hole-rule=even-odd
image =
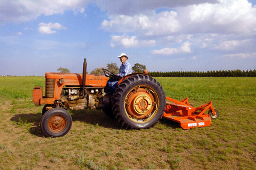
{"label": "small front tractor wheel with dark tyre and rusty orange rim", "polygon": [[48,137],[66,135],[72,126],[72,117],[62,108],[48,110],[41,118],[41,130]]}

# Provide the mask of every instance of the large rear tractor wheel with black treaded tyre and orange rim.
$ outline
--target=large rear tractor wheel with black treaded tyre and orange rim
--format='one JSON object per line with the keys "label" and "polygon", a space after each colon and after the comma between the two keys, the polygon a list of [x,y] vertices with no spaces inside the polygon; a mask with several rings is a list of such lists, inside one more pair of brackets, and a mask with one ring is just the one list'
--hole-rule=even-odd
{"label": "large rear tractor wheel with black treaded tyre and orange rim", "polygon": [[125,129],[148,129],[162,118],[165,103],[162,86],[148,75],[137,74],[118,85],[113,112]]}

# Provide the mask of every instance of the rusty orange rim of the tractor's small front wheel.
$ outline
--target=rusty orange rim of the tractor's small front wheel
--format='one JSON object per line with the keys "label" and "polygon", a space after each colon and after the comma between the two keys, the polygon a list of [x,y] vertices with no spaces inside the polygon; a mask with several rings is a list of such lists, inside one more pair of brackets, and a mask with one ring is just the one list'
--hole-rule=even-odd
{"label": "rusty orange rim of the tractor's small front wheel", "polygon": [[67,127],[67,119],[60,114],[54,115],[49,118],[47,126],[51,132],[60,133]]}

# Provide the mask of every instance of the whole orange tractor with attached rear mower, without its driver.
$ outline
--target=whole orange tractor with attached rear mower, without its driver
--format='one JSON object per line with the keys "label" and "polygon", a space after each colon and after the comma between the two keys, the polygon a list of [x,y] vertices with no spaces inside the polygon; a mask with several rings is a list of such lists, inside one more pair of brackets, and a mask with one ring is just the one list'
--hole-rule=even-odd
{"label": "whole orange tractor with attached rear mower, without its driver", "polygon": [[87,74],[84,59],[82,74],[46,73],[45,96],[42,87],[33,89],[34,104],[45,105],[40,126],[46,136],[64,136],[69,132],[72,117],[67,109],[102,109],[125,129],[151,128],[162,117],[180,123],[183,129],[205,127],[210,126],[211,118],[219,116],[211,102],[195,108],[187,99],[176,101],[166,97],[162,86],[146,73],[127,75],[111,94],[106,84],[116,76],[109,70],[103,71],[104,76]]}

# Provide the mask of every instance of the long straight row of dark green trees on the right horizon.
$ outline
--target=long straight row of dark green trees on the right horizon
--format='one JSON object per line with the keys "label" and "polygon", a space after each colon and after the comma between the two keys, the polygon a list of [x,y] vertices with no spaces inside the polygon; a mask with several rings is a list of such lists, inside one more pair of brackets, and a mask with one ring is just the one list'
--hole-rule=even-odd
{"label": "long straight row of dark green trees on the right horizon", "polygon": [[254,70],[219,70],[219,71],[149,71],[148,75],[152,77],[256,77]]}

